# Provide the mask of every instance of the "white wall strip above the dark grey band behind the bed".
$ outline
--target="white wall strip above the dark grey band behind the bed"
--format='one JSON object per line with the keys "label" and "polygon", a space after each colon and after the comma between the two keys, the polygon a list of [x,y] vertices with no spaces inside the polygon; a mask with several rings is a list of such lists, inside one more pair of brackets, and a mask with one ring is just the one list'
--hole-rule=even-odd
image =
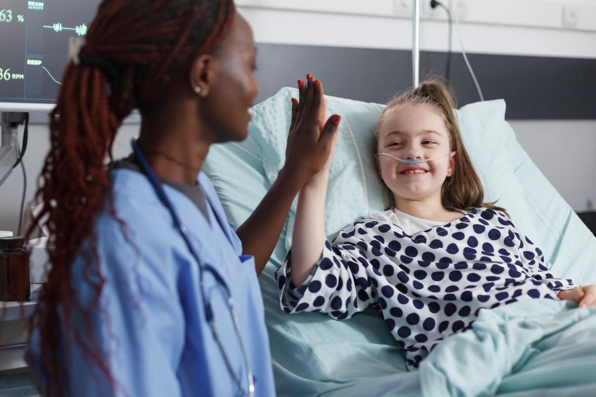
{"label": "white wall strip above the dark grey band behind the bed", "polygon": [[[266,0],[252,1],[261,4],[268,3]],[[588,1],[596,7],[596,1]],[[519,4],[524,2],[530,2],[530,0],[519,0]],[[485,0],[473,0],[474,9],[488,7],[489,3]],[[240,7],[240,11],[251,23],[256,41],[261,43],[387,49],[412,48],[412,21],[406,18],[260,7]],[[445,14],[444,11],[440,12]],[[540,11],[537,9],[536,12],[536,18],[538,18]],[[437,14],[437,18],[439,17],[441,14]],[[596,32],[594,31],[468,23],[464,20],[461,21],[460,27],[465,50],[468,52],[596,58]],[[596,29],[596,20],[594,29]],[[448,48],[447,32],[446,21],[421,21],[420,49],[422,51],[446,51]],[[454,51],[461,51],[455,27],[452,46]]]}

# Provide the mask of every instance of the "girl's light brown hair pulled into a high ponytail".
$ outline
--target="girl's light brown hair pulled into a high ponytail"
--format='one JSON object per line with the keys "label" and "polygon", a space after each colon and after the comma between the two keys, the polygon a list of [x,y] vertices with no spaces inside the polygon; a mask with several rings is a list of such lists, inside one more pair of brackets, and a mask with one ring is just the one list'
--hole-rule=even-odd
{"label": "girl's light brown hair pulled into a high ponytail", "polygon": [[433,108],[439,112],[445,127],[449,131],[449,145],[451,150],[456,151],[457,154],[455,155],[454,173],[445,179],[441,189],[443,207],[452,211],[464,210],[470,207],[484,207],[507,214],[504,208],[496,207],[495,202],[483,202],[484,189],[476,170],[474,170],[470,156],[465,150],[460,128],[457,125],[453,111],[455,100],[448,87],[438,80],[426,80],[415,89],[398,94],[395,99],[387,104],[378,118],[375,126],[375,137],[377,139],[386,115],[400,105],[427,105]]}

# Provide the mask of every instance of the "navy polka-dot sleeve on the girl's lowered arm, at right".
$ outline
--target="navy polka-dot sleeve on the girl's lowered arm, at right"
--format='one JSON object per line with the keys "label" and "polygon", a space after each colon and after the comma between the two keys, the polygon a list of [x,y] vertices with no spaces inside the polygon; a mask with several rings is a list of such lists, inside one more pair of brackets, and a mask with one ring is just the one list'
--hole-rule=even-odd
{"label": "navy polka-dot sleeve on the girl's lowered arm, at right", "polygon": [[[513,229],[511,233],[516,237],[515,244],[519,249],[520,261],[522,262],[523,267],[529,270],[530,276],[532,276],[533,279],[547,285],[554,291],[573,289],[576,287],[576,285],[573,285],[572,280],[557,279],[552,275],[549,270],[551,264],[544,260],[544,253],[532,242],[532,240],[527,238],[527,236],[524,236],[519,230]],[[507,241],[505,243],[507,243]]]}

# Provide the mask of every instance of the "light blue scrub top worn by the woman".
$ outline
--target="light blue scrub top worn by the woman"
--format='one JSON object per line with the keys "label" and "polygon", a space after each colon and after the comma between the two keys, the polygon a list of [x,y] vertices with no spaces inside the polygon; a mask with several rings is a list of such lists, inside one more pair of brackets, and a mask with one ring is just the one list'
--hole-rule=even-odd
{"label": "light blue scrub top worn by the woman", "polygon": [[[110,179],[116,214],[126,223],[127,233],[123,233],[113,216],[101,212],[95,224],[99,267],[83,275],[84,261],[79,254],[73,263],[72,287],[83,307],[90,307],[92,289],[82,282],[83,277],[105,279],[102,310],[90,312],[104,362],[115,378],[116,395],[240,395],[205,319],[198,265],[167,208],[143,174],[116,169],[111,171]],[[173,187],[163,187],[193,237],[201,259],[215,267],[229,287],[254,374],[255,395],[275,395],[254,259],[241,255],[240,239],[226,221],[215,189],[203,172],[198,183],[213,204],[213,208],[207,205],[210,223],[187,196]],[[81,252],[86,249],[88,243]],[[205,273],[204,280],[224,349],[247,390],[246,366],[225,295],[210,273]],[[79,315],[73,315],[71,322],[82,335],[88,335]],[[107,395],[108,382],[97,364],[83,352],[64,324],[60,330],[64,383],[70,395]],[[44,382],[37,376],[38,344],[39,332],[34,330],[28,361],[36,379]]]}

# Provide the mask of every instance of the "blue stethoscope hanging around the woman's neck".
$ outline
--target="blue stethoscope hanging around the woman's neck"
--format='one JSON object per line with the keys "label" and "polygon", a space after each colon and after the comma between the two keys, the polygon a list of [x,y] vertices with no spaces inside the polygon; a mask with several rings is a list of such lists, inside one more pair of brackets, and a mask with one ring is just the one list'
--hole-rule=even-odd
{"label": "blue stethoscope hanging around the woman's neck", "polygon": [[[180,235],[186,242],[189,251],[193,255],[194,259],[197,261],[198,268],[199,268],[199,271],[198,271],[199,280],[200,280],[199,284],[200,284],[200,289],[201,289],[201,295],[203,296],[203,301],[204,301],[205,317],[207,318],[207,322],[209,323],[209,326],[211,327],[211,330],[213,332],[213,339],[215,339],[215,341],[218,343],[219,349],[222,352],[222,356],[224,357],[226,367],[228,367],[228,371],[229,371],[232,379],[234,379],[234,382],[238,386],[238,389],[240,389],[240,391],[243,393],[243,395],[253,397],[254,396],[253,373],[252,373],[252,370],[250,370],[249,358],[246,354],[246,349],[244,349],[244,342],[242,340],[242,335],[240,333],[240,323],[238,323],[238,316],[237,316],[236,310],[234,308],[234,301],[232,301],[232,295],[229,292],[229,288],[226,285],[224,279],[219,275],[218,271],[215,270],[215,268],[213,268],[211,265],[206,264],[203,261],[201,261],[200,257],[198,256],[197,251],[194,248],[193,243],[191,242],[190,235],[188,234],[188,229],[184,226],[184,224],[178,217],[178,214],[176,214],[176,211],[174,210],[172,202],[170,202],[170,200],[167,198],[165,190],[163,190],[162,183],[159,181],[159,179],[157,178],[157,175],[153,172],[153,170],[151,170],[149,163],[147,162],[147,160],[145,160],[145,157],[141,152],[141,148],[139,148],[139,145],[138,145],[138,143],[136,143],[135,139],[132,139],[131,145],[132,145],[132,151],[135,154],[136,161],[138,162],[142,173],[145,174],[145,176],[151,183],[151,186],[153,186],[153,189],[155,190],[157,197],[160,199],[160,201],[162,201],[162,204],[164,205],[164,207],[166,207],[167,210],[170,211],[170,214],[172,215],[172,219],[174,221],[174,224],[176,225],[176,228],[178,229],[178,232],[180,232]],[[207,199],[207,201],[209,201],[209,198],[207,198],[207,196],[205,196],[205,198]],[[209,202],[209,204],[211,205],[210,202]],[[221,220],[219,220],[218,215],[216,214],[215,216],[218,218],[218,222],[221,225]],[[223,226],[222,226],[222,229],[223,229]],[[244,389],[244,387],[242,386],[242,384],[240,382],[240,379],[238,379],[238,377],[234,373],[234,370],[232,369],[232,364],[229,361],[228,355],[226,355],[226,353],[225,353],[224,346],[221,342],[221,339],[219,339],[219,334],[218,334],[217,328],[215,327],[215,318],[213,317],[213,310],[211,308],[211,302],[209,302],[209,300],[207,299],[207,295],[205,293],[205,286],[204,286],[204,280],[203,280],[203,274],[205,271],[208,271],[209,273],[211,273],[213,275],[213,277],[215,277],[216,282],[218,282],[219,285],[222,287],[221,289],[224,290],[225,295],[227,297],[229,311],[232,315],[232,318],[234,319],[234,326],[236,329],[236,334],[238,335],[238,341],[240,342],[240,349],[242,351],[242,355],[244,358],[244,364],[246,364],[246,373],[247,373],[247,378],[249,381],[249,390]]]}

